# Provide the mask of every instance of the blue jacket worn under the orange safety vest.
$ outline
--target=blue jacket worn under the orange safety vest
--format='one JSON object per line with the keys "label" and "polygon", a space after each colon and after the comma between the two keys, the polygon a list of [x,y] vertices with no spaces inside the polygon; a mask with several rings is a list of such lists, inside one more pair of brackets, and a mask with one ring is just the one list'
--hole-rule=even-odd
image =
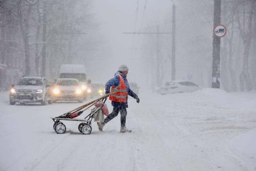
{"label": "blue jacket worn under the orange safety vest", "polygon": [[[110,80],[108,80],[108,82],[105,84],[105,90],[106,90],[106,94],[108,94],[110,92],[110,87],[111,86],[119,86],[119,76],[116,75],[116,74],[120,74],[124,81],[125,81],[125,85],[126,85],[126,88],[127,88],[127,92],[128,92],[128,95],[130,95],[131,97],[133,98],[136,98],[137,95],[130,89],[129,87],[129,84],[126,80],[126,76],[121,74],[120,72],[117,71],[117,73],[115,73],[115,76],[114,78],[111,78]],[[128,103],[127,103],[127,99],[126,99],[126,102],[124,103],[119,103],[119,102],[115,102],[115,101],[112,101],[112,106],[121,106],[121,107],[128,107]]]}

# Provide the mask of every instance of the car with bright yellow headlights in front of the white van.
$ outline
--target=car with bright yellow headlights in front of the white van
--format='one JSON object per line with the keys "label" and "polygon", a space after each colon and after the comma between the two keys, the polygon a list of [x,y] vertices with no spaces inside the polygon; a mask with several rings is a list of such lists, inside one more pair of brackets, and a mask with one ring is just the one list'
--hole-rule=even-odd
{"label": "car with bright yellow headlights in front of the white van", "polygon": [[79,81],[74,78],[59,78],[52,89],[52,100],[56,101],[78,101],[82,103],[83,91]]}

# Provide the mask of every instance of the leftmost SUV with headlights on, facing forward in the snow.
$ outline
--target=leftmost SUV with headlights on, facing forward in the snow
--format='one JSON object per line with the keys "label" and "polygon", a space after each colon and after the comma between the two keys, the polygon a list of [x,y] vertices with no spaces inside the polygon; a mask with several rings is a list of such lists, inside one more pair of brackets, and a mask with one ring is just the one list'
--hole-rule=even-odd
{"label": "leftmost SUV with headlights on, facing forward in the snow", "polygon": [[11,84],[10,105],[18,103],[51,103],[51,89],[44,77],[23,77],[17,85]]}

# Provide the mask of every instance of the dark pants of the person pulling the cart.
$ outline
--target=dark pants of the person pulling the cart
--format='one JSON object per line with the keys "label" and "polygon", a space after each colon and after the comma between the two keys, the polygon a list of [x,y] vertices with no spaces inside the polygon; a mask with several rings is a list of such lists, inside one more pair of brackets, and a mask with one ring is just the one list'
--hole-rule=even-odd
{"label": "dark pants of the person pulling the cart", "polygon": [[116,117],[119,112],[121,114],[121,119],[120,119],[121,120],[121,127],[124,127],[125,126],[125,121],[126,121],[126,115],[127,115],[127,111],[126,111],[125,107],[114,106],[112,113],[110,113],[104,119],[104,123],[108,123],[110,120],[112,120],[114,117]]}

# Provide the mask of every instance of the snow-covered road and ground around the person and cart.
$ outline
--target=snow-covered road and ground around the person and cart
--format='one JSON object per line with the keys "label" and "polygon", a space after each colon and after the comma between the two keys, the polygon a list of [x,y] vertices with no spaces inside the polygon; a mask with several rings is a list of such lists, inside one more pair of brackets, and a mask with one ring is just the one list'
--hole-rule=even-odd
{"label": "snow-covered road and ground around the person and cart", "polygon": [[139,104],[128,101],[132,133],[119,133],[118,115],[103,132],[93,122],[90,135],[75,121],[57,134],[49,118],[81,103],[11,106],[8,92],[0,97],[1,171],[256,170],[256,91],[142,92]]}

